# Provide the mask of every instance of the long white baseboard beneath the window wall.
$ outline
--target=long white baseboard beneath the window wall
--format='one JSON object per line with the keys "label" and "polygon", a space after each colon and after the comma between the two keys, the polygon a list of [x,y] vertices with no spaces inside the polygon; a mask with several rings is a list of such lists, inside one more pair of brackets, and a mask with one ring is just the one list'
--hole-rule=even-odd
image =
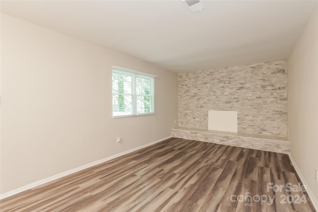
{"label": "long white baseboard beneath the window wall", "polygon": [[99,163],[103,163],[103,162],[105,162],[105,161],[114,159],[114,158],[116,158],[116,157],[120,157],[120,156],[122,156],[122,155],[128,154],[128,153],[130,153],[130,152],[136,151],[136,150],[141,149],[141,148],[145,148],[145,147],[147,147],[147,146],[153,145],[153,144],[155,144],[155,143],[158,143],[158,142],[160,142],[160,141],[164,141],[164,140],[170,139],[170,138],[172,138],[172,136],[168,136],[168,137],[165,137],[165,138],[163,138],[163,139],[159,139],[159,140],[157,140],[157,141],[153,141],[153,142],[147,143],[147,144],[145,144],[145,145],[141,145],[141,146],[138,146],[138,147],[129,149],[129,150],[127,150],[127,151],[120,152],[120,153],[118,153],[118,154],[114,154],[114,155],[111,155],[111,156],[109,156],[109,157],[105,157],[105,158],[100,159],[100,160],[96,160],[96,161],[94,161],[94,162],[91,162],[91,163],[88,163],[88,164],[79,166],[79,167],[77,167],[77,168],[74,168],[74,169],[71,169],[71,170],[68,170],[68,171],[65,171],[65,172],[62,172],[62,173],[60,173],[60,174],[56,174],[56,175],[54,175],[54,176],[45,178],[45,179],[43,179],[43,180],[39,180],[39,181],[36,181],[36,182],[34,182],[34,183],[30,183],[30,184],[28,184],[28,185],[25,185],[25,186],[22,186],[22,187],[20,187],[20,188],[14,189],[14,190],[12,190],[12,191],[8,191],[8,192],[5,192],[5,193],[2,193],[2,194],[0,194],[0,200],[2,200],[2,199],[4,199],[4,198],[7,198],[7,197],[10,197],[10,196],[12,196],[12,195],[18,194],[18,193],[20,193],[20,192],[26,191],[26,190],[28,190],[28,189],[32,189],[32,188],[34,188],[34,187],[40,186],[40,185],[42,185],[42,184],[48,183],[48,182],[50,182],[50,181],[59,179],[59,178],[61,178],[61,177],[65,177],[65,176],[67,176],[67,175],[69,175],[69,174],[73,174],[73,173],[78,172],[78,171],[80,171],[80,170],[83,170],[83,169],[85,169],[85,168],[89,168],[89,167],[94,166],[94,165],[97,165],[97,164],[99,164]]}

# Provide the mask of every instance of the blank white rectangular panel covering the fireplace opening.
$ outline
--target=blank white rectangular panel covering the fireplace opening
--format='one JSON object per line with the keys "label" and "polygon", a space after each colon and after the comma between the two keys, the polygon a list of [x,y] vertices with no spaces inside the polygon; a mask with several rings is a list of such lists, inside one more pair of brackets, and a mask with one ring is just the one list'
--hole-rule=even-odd
{"label": "blank white rectangular panel covering the fireplace opening", "polygon": [[238,111],[209,110],[208,129],[238,132]]}

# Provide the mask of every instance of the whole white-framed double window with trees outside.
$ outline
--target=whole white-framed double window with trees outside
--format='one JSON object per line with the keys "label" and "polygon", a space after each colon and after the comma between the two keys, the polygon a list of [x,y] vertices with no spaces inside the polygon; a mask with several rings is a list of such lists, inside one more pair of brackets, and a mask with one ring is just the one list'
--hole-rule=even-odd
{"label": "whole white-framed double window with trees outside", "polygon": [[114,66],[113,117],[155,112],[155,75]]}

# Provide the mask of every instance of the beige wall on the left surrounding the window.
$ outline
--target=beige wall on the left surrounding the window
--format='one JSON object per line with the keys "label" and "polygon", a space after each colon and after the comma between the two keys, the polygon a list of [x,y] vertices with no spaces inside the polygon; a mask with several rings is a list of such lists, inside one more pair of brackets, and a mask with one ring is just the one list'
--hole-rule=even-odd
{"label": "beige wall on the left surrounding the window", "polygon": [[[158,76],[156,115],[112,118],[114,65]],[[1,14],[0,192],[170,136],[177,90],[175,73]]]}

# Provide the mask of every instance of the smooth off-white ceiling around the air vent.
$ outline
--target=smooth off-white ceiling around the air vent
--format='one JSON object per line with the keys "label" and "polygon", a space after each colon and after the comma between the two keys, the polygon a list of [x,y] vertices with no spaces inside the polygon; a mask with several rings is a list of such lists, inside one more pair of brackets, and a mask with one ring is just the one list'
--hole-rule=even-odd
{"label": "smooth off-white ceiling around the air vent", "polygon": [[175,72],[287,59],[318,1],[1,0],[1,12]]}

